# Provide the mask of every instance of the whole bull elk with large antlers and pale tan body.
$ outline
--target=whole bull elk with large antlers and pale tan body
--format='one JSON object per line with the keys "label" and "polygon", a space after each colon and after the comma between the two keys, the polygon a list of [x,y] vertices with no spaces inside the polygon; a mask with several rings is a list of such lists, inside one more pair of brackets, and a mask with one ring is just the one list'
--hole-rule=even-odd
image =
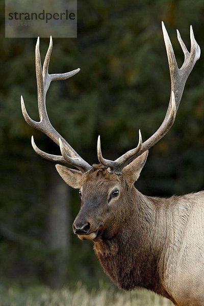
{"label": "whole bull elk with large antlers and pale tan body", "polygon": [[[171,95],[163,123],[149,139],[111,161],[101,154],[99,164],[90,166],[60,136],[48,119],[45,97],[52,81],[72,77],[80,69],[48,74],[52,37],[41,67],[39,38],[36,44],[36,77],[40,121],[32,120],[21,97],[22,113],[35,129],[60,146],[61,156],[40,150],[32,137],[34,150],[57,163],[62,179],[79,189],[81,210],[73,222],[73,232],[81,240],[94,242],[94,250],[105,272],[124,290],[146,288],[177,306],[204,305],[204,191],[170,198],[141,194],[134,186],[146,162],[148,149],[172,126],[186,80],[200,56],[200,48],[190,27],[188,52],[179,31],[177,39],[184,63],[177,67],[173,48],[162,23],[171,77]],[[77,169],[70,169],[72,165]]]}

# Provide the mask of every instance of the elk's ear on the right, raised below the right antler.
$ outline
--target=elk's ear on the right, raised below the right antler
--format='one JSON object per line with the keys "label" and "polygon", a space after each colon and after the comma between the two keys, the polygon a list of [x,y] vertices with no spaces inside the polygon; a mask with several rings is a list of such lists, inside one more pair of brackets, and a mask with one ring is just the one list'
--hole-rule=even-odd
{"label": "elk's ear on the right, raised below the right antler", "polygon": [[139,179],[140,172],[146,162],[147,155],[148,150],[123,168],[122,173],[125,173],[131,183],[135,183]]}

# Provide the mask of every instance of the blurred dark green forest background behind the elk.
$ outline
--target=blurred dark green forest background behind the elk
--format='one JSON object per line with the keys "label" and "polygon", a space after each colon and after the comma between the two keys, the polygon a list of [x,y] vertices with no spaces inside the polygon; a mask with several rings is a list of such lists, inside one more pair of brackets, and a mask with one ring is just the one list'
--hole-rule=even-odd
{"label": "blurred dark green forest background behind the elk", "polygon": [[[90,164],[97,163],[100,134],[104,157],[115,159],[160,126],[170,96],[161,30],[164,21],[179,66],[180,30],[190,47],[190,24],[201,58],[187,81],[170,132],[149,151],[136,187],[147,195],[170,196],[204,186],[204,0],[78,0],[78,38],[54,39],[49,72],[81,71],[53,82],[47,94],[50,121]],[[48,39],[41,39],[44,58]],[[20,95],[38,120],[36,39],[4,38],[1,1],[0,92],[0,281],[4,286],[46,284],[97,287],[109,282],[92,250],[72,233],[80,209],[77,190],[62,181],[55,165],[39,157],[59,148],[23,119]]]}

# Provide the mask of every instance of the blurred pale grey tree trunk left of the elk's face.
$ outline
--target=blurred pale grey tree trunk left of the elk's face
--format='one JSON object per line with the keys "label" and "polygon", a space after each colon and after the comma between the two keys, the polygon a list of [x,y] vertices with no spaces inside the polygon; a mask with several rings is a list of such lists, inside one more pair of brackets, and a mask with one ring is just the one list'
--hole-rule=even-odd
{"label": "blurred pale grey tree trunk left of the elk's face", "polygon": [[67,277],[70,249],[70,189],[63,182],[53,165],[48,165],[47,231],[46,241],[52,254],[52,267],[47,274],[47,283],[53,288],[63,286]]}

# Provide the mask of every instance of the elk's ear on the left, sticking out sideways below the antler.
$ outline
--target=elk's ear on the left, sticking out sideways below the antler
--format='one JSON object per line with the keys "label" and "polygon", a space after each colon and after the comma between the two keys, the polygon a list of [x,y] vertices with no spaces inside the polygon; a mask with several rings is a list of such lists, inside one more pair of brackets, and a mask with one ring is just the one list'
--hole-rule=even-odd
{"label": "elk's ear on the left, sticking out sideways below the antler", "polygon": [[56,169],[67,185],[76,189],[80,189],[82,187],[81,171],[70,169],[62,165],[56,165]]}

